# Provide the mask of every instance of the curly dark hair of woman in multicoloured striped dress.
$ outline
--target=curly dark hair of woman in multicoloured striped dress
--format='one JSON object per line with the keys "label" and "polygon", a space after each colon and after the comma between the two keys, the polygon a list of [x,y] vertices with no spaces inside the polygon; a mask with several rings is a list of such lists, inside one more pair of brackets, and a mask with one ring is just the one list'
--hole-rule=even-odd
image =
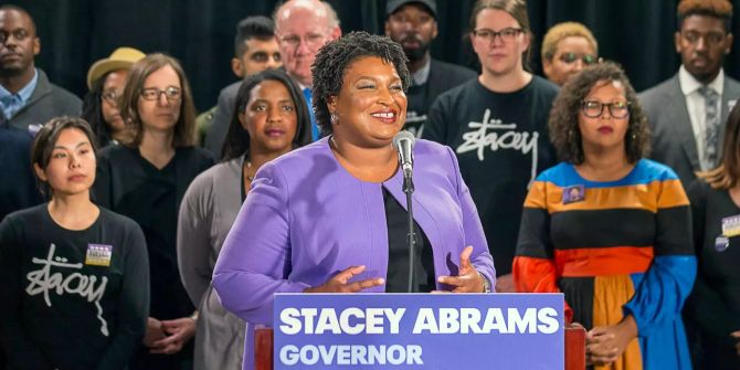
{"label": "curly dark hair of woman in multicoloured striped dress", "polygon": [[569,78],[560,89],[550,110],[549,128],[552,145],[560,160],[573,165],[583,163],[583,142],[578,117],[583,99],[600,82],[620,82],[624,87],[624,95],[630,104],[630,120],[624,142],[627,160],[634,163],[647,156],[651,131],[635,89],[622,67],[613,62],[585,67]]}

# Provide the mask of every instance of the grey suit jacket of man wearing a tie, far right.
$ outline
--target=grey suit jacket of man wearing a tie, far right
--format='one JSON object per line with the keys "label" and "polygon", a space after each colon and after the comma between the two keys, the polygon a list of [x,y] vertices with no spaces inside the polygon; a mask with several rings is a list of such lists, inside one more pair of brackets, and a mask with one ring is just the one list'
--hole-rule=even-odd
{"label": "grey suit jacket of man wearing a tie, far right", "polygon": [[[725,75],[719,144],[725,139],[726,121],[731,104],[740,97],[740,83]],[[688,188],[699,171],[699,155],[691,120],[681,93],[678,74],[638,95],[653,130],[651,158],[672,167],[684,188]]]}

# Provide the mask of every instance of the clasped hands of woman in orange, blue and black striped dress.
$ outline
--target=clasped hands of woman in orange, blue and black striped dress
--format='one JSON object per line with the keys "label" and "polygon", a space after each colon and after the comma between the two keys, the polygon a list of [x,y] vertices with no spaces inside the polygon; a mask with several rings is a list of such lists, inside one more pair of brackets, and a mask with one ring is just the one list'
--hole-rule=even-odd
{"label": "clasped hands of woman in orange, blue and black striped dress", "polygon": [[637,324],[632,315],[617,325],[591,329],[585,335],[586,362],[606,364],[616,361],[635,337],[637,337]]}

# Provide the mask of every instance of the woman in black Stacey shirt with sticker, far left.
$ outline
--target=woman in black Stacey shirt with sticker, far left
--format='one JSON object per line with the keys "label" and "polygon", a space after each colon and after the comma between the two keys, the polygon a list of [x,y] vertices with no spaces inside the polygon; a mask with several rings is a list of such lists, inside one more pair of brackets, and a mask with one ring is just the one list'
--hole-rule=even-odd
{"label": "woman in black Stacey shirt with sticker, far left", "polygon": [[125,369],[141,342],[144,234],[89,200],[94,142],[80,118],[44,125],[32,162],[51,201],[0,224],[0,342],[9,369]]}

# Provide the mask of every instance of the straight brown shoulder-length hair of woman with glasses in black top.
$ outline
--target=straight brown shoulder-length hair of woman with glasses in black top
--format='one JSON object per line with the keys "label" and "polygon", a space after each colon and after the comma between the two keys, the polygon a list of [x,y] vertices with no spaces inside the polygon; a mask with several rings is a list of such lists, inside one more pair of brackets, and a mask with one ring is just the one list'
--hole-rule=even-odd
{"label": "straight brown shoulder-length hair of woman with glasses in black top", "polygon": [[126,125],[130,125],[134,131],[134,140],[130,142],[134,147],[138,147],[141,144],[141,138],[144,136],[142,123],[138,112],[138,103],[139,98],[141,98],[144,83],[149,75],[167,65],[171,66],[178,77],[180,77],[182,92],[180,94],[180,117],[175,125],[172,146],[178,148],[192,147],[195,145],[195,105],[192,102],[192,93],[190,84],[188,83],[188,77],[182,70],[180,62],[175,57],[156,53],[148,54],[144,59],[134,63],[131,72],[129,72],[128,78],[126,80],[126,88],[124,88],[124,94],[120,98],[120,117]]}

